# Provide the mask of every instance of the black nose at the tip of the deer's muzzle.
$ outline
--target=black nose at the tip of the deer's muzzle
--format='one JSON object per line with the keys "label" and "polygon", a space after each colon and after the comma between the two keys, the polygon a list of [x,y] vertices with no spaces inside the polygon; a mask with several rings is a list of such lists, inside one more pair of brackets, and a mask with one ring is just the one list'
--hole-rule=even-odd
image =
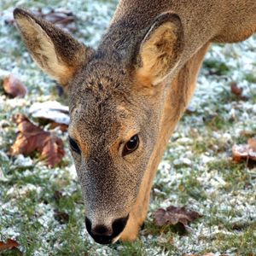
{"label": "black nose at the tip of the deer's muzzle", "polygon": [[113,238],[125,229],[125,225],[129,218],[129,214],[125,218],[116,218],[113,221],[112,227],[107,227],[103,224],[97,224],[93,229],[89,218],[85,217],[85,225],[90,236],[98,243],[108,244],[113,241]]}

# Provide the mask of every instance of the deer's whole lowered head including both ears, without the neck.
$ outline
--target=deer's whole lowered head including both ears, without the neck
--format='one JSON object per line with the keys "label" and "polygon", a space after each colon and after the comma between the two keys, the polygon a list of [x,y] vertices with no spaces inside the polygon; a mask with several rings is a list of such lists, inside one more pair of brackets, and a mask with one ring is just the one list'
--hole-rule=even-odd
{"label": "deer's whole lowered head including both ears, without the neck", "polygon": [[157,17],[129,57],[108,45],[89,49],[23,9],[15,9],[15,20],[39,67],[68,88],[69,144],[86,228],[97,242],[113,242],[125,229],[159,137],[166,77],[182,48],[180,20]]}

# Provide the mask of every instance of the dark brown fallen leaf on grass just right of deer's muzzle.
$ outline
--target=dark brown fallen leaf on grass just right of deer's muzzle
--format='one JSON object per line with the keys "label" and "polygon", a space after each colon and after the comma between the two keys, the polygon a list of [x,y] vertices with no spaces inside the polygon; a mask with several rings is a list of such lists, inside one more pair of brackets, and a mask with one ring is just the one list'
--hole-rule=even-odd
{"label": "dark brown fallen leaf on grass just right of deer's muzzle", "polygon": [[187,210],[185,207],[167,207],[154,212],[155,224],[158,226],[181,224],[184,230],[190,222],[201,218],[198,212]]}

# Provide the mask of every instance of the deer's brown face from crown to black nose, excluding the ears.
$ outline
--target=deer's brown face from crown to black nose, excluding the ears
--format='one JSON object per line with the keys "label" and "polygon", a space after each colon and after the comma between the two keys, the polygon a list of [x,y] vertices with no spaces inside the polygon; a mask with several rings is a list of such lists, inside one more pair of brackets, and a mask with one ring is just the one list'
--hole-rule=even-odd
{"label": "deer's brown face from crown to black nose, excluding the ears", "polygon": [[125,228],[160,116],[152,96],[132,90],[131,74],[106,70],[109,64],[92,58],[69,91],[69,143],[84,195],[86,227],[102,243]]}

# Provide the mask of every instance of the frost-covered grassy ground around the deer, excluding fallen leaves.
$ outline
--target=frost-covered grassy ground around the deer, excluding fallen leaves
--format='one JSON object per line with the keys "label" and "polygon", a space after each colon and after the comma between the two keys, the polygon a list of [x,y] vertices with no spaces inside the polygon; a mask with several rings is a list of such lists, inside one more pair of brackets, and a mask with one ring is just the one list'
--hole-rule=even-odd
{"label": "frost-covered grassy ground around the deer, excluding fallen leaves", "polygon": [[[25,98],[10,99],[0,86],[0,241],[15,239],[25,255],[254,255],[256,168],[232,161],[231,148],[256,136],[256,38],[212,46],[189,110],[177,125],[154,179],[145,229],[134,243],[101,246],[85,232],[67,133],[55,130],[65,141],[67,154],[54,169],[44,166],[37,155],[8,154],[17,132],[15,113],[29,116],[33,102],[67,104],[65,97],[58,96],[55,82],[32,62],[15,27],[5,22],[15,6],[70,9],[78,17],[74,35],[96,47],[116,1],[0,3],[0,84],[12,73],[28,88]],[[243,89],[245,99],[231,93],[232,82]],[[154,224],[154,210],[169,205],[187,206],[203,217],[190,224],[188,235],[179,236],[171,227]],[[56,209],[68,214],[67,223],[55,219]]]}

